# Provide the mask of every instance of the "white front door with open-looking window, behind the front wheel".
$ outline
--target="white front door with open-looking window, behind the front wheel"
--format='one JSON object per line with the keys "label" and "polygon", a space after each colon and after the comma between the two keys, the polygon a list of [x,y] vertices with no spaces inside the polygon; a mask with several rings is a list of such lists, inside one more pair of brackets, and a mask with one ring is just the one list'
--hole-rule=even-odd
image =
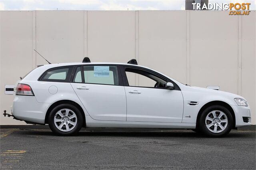
{"label": "white front door with open-looking window, behind the front wheel", "polygon": [[124,67],[122,73],[127,81],[127,121],[182,122],[183,97],[178,87],[166,89],[168,80],[146,69]]}

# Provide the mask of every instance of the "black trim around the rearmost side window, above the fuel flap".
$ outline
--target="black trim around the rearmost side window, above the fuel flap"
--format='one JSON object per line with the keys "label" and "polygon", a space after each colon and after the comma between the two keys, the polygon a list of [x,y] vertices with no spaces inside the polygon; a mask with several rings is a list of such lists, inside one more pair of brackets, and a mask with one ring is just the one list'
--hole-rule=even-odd
{"label": "black trim around the rearmost side window, above the fuel flap", "polygon": [[[48,73],[49,71],[55,70],[55,69],[62,69],[62,68],[70,68],[70,70],[68,71],[68,75],[66,76],[65,80],[59,80],[59,79],[43,79],[44,76],[46,75],[46,73]],[[38,78],[38,81],[49,81],[49,82],[62,82],[62,83],[68,83],[70,82],[70,79],[72,77],[72,73],[74,71],[74,65],[66,65],[66,66],[59,66],[59,67],[52,67],[50,69],[47,69],[46,71],[44,71],[44,73],[42,73],[42,75],[40,75],[40,77]]]}

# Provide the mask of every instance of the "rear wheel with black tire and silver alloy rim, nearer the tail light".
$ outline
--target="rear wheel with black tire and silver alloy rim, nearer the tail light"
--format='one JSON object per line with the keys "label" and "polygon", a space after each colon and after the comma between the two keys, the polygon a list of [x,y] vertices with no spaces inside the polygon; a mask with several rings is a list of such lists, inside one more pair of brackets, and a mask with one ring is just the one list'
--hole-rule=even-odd
{"label": "rear wheel with black tire and silver alloy rim, nearer the tail light", "polygon": [[83,116],[74,105],[61,104],[52,109],[48,123],[52,132],[61,136],[71,136],[82,128]]}

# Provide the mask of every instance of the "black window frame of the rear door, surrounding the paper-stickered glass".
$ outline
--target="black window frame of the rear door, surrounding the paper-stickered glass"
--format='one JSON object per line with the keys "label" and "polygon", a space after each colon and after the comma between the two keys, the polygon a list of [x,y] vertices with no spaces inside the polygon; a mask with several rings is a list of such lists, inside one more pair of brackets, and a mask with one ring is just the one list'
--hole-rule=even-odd
{"label": "black window frame of the rear door, surrounding the paper-stickered glass", "polygon": [[[94,84],[94,85],[111,85],[111,84],[100,84],[100,83],[85,83],[85,80],[84,80],[84,66],[115,66],[115,67],[117,67],[118,85],[114,85],[114,86],[124,86],[123,79],[122,79],[122,73],[121,73],[121,70],[120,70],[120,65],[117,65],[117,64],[82,64],[82,65],[76,65],[76,67],[73,70],[72,77],[70,79],[71,80],[70,83],[80,83],[80,84],[82,83],[82,84]],[[76,72],[77,67],[81,68],[82,82],[74,82],[75,72]]]}

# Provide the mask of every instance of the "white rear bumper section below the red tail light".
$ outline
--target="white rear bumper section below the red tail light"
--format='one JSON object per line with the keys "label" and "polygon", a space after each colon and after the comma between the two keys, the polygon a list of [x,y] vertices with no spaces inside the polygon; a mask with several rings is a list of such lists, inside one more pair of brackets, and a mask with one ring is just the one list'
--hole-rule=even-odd
{"label": "white rear bumper section below the red tail light", "polygon": [[34,96],[16,95],[12,104],[12,115],[16,119],[44,124],[50,103],[38,103]]}

